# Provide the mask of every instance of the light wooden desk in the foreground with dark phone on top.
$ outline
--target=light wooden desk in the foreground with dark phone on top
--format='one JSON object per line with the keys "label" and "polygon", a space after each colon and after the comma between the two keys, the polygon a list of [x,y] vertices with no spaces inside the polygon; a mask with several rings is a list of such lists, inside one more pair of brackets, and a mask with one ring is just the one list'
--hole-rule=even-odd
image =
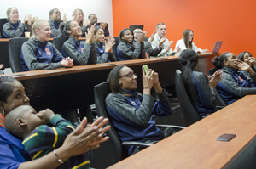
{"label": "light wooden desk in the foreground with dark phone on top", "polygon": [[[255,100],[246,96],[109,168],[255,168]],[[224,133],[236,137],[216,141]]]}

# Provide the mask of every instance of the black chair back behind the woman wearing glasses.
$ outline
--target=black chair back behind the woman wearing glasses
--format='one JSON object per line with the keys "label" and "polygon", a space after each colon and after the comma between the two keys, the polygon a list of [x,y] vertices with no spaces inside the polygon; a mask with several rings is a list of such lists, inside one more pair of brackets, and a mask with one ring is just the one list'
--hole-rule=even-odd
{"label": "black chair back behind the woman wearing glasses", "polygon": [[[106,109],[105,99],[108,94],[111,93],[108,82],[102,82],[94,87],[94,98],[96,104],[97,115],[108,118],[108,110]],[[113,127],[111,121],[108,121],[107,125],[111,128],[108,130],[107,134],[109,136],[110,142],[113,145],[115,162],[125,159],[128,155],[123,148],[119,136]]]}

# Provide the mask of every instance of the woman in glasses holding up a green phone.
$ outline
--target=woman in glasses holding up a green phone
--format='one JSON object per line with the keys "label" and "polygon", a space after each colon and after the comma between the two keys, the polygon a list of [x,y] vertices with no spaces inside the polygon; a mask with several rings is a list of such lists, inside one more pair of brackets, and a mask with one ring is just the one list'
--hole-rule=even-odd
{"label": "woman in glasses holding up a green phone", "polygon": [[[159,141],[171,134],[172,128],[162,132],[155,127],[155,121],[152,120],[152,115],[172,114],[166,93],[160,86],[157,72],[149,69],[146,74],[143,69],[143,94],[136,91],[136,74],[125,65],[114,67],[108,75],[108,82],[112,93],[105,99],[107,110],[122,142],[149,143]],[[159,99],[155,102],[151,96],[152,87]],[[125,149],[128,155],[133,155],[143,148],[126,146]]]}

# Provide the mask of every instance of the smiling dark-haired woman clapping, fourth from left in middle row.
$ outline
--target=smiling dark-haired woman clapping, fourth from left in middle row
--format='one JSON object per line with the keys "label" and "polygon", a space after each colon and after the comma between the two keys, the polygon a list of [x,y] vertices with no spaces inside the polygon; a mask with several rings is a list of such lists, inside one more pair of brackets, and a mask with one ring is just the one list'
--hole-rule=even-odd
{"label": "smiling dark-haired woman clapping, fourth from left in middle row", "polygon": [[145,37],[146,34],[143,32],[137,37],[137,42],[133,42],[133,32],[130,29],[125,28],[120,31],[120,42],[116,49],[117,59],[121,61],[146,58],[146,50],[143,42]]}

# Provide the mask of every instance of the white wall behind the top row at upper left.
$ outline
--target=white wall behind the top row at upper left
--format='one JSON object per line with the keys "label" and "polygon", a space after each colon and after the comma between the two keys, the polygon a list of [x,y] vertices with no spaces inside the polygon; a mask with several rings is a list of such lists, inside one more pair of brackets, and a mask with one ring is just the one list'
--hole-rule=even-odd
{"label": "white wall behind the top row at upper left", "polygon": [[49,11],[52,8],[59,8],[61,15],[66,13],[67,20],[71,20],[73,10],[80,8],[84,12],[84,18],[93,13],[96,14],[98,22],[107,22],[109,33],[113,35],[112,0],[0,0],[0,4],[0,18],[6,18],[6,10],[15,7],[18,8],[20,20],[26,14],[49,20]]}

